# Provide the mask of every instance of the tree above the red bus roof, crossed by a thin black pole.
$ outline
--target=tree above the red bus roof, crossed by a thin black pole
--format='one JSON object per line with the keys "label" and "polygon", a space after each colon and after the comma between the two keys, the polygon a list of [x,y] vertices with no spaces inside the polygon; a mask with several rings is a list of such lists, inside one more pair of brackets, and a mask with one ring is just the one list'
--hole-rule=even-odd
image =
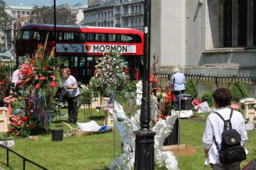
{"label": "tree above the red bus roof, crossed by a thin black pole", "polygon": [[[75,25],[77,17],[66,5],[56,6],[56,23],[61,25]],[[54,6],[34,6],[29,23],[54,24]]]}

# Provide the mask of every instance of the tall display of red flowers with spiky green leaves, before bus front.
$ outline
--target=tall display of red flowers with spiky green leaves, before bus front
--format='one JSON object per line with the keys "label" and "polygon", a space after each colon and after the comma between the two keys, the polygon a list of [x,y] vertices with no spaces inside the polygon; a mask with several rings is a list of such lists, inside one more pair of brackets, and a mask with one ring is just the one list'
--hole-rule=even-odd
{"label": "tall display of red flowers with spiky green leaves, before bus front", "polygon": [[27,62],[22,64],[22,78],[17,82],[22,89],[44,93],[57,87],[57,80],[60,80],[59,70],[56,69],[59,60],[54,57],[54,49],[50,55],[45,49],[46,46],[38,45],[34,55],[27,57]]}

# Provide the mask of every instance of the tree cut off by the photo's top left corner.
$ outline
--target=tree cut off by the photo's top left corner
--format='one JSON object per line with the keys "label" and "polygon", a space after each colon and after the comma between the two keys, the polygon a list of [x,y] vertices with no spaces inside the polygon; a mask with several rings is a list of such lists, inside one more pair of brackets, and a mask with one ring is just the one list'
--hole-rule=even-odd
{"label": "tree cut off by the photo's top left corner", "polygon": [[5,6],[5,1],[0,0],[0,29],[11,25],[11,16],[4,11]]}

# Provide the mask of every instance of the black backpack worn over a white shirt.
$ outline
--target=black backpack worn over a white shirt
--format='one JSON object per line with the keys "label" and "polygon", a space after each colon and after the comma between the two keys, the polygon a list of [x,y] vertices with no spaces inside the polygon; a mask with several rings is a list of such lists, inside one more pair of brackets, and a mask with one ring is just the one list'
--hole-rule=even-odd
{"label": "black backpack worn over a white shirt", "polygon": [[218,112],[214,113],[216,113],[224,122],[221,149],[218,148],[215,137],[213,137],[217,146],[218,153],[220,154],[220,163],[223,165],[228,165],[234,162],[245,160],[246,153],[245,148],[241,146],[241,135],[236,131],[236,129],[232,129],[232,124],[230,121],[233,114],[233,109],[231,108],[229,120],[224,120],[222,115],[220,115]]}

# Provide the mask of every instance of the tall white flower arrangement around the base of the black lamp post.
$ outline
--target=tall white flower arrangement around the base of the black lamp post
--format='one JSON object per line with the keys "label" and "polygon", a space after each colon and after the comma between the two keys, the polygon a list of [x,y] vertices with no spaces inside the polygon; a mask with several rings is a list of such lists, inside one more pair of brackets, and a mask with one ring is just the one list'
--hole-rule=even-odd
{"label": "tall white flower arrangement around the base of the black lamp post", "polygon": [[[137,83],[137,96],[136,103],[141,105],[142,99],[142,82]],[[156,117],[157,101],[155,97],[151,97],[151,116]],[[110,164],[110,169],[133,169],[135,162],[135,134],[134,131],[140,129],[140,110],[135,113],[130,119],[125,115],[123,107],[115,102],[114,110],[110,110],[114,120],[114,128],[118,129],[122,143],[123,153],[116,157]],[[123,120],[119,121],[119,117]],[[154,159],[159,167],[166,166],[169,170],[178,169],[177,160],[172,152],[163,152],[162,146],[164,139],[172,132],[173,125],[175,124],[177,114],[168,116],[166,120],[158,120],[154,125],[153,131],[156,131],[154,137]],[[127,127],[126,127],[127,125]]]}

